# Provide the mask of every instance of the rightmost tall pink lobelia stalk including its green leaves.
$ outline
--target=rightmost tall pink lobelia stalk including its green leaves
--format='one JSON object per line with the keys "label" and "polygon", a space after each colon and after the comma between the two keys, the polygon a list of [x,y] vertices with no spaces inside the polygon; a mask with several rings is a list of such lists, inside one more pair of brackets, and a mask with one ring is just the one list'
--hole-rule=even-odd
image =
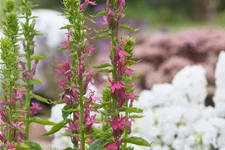
{"label": "rightmost tall pink lobelia stalk including its green leaves", "polygon": [[135,42],[130,37],[119,37],[120,28],[136,31],[130,26],[120,24],[124,16],[124,7],[125,0],[107,0],[106,10],[96,15],[96,17],[103,16],[102,24],[108,25],[108,28],[97,31],[98,35],[94,38],[108,36],[111,38],[111,64],[101,64],[95,67],[99,72],[109,74],[108,81],[110,83],[110,86],[103,90],[103,101],[99,105],[102,110],[102,131],[96,129],[96,132],[101,135],[94,142],[98,145],[96,149],[133,149],[128,143],[150,147],[150,144],[143,138],[130,136],[133,119],[141,117],[135,114],[142,113],[142,110],[133,107],[136,96],[132,85],[133,70],[130,69],[130,66],[135,64],[132,50]]}

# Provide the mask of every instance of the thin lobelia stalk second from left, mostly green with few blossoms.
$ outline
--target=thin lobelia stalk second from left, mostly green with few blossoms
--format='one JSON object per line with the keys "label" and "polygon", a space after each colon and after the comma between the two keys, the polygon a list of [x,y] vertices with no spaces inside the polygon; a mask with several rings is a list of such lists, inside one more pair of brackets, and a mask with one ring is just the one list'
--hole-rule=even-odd
{"label": "thin lobelia stalk second from left, mostly green with few blossoms", "polygon": [[40,110],[39,107],[35,107],[36,105],[33,104],[31,106],[31,95],[32,95],[32,89],[33,84],[40,83],[38,79],[34,79],[35,70],[38,64],[38,61],[43,59],[41,56],[32,56],[34,54],[34,47],[35,47],[35,41],[34,37],[38,36],[38,32],[34,29],[35,27],[35,20],[32,16],[32,8],[34,5],[28,1],[23,0],[22,2],[22,17],[25,21],[21,23],[22,26],[22,36],[23,36],[23,49],[25,51],[25,62],[20,62],[21,69],[23,70],[23,81],[26,84],[26,100],[25,100],[25,135],[26,140],[29,140],[29,125],[31,123],[31,114],[34,111],[37,111],[37,109]]}

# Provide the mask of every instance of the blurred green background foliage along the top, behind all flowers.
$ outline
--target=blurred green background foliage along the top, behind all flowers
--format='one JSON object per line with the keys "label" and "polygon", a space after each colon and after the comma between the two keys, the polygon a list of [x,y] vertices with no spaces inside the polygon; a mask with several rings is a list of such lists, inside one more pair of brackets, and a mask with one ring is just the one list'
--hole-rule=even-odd
{"label": "blurred green background foliage along the top, behind all flowers", "polygon": [[[0,0],[1,13],[3,1]],[[63,11],[62,0],[32,1],[40,8]],[[96,2],[100,4],[105,0]],[[225,25],[225,0],[127,0],[127,3],[127,18],[150,21],[153,30],[162,26],[179,29],[183,26]]]}

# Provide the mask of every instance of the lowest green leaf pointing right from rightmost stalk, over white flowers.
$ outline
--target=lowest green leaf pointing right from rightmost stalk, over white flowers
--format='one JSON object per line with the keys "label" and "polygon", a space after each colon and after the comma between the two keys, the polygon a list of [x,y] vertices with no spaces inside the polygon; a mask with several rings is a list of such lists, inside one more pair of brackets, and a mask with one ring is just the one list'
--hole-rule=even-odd
{"label": "lowest green leaf pointing right from rightmost stalk, over white flowers", "polygon": [[148,147],[151,146],[151,144],[149,144],[148,141],[146,141],[145,139],[143,139],[141,137],[133,136],[133,137],[125,138],[125,139],[123,139],[123,142],[140,145],[140,146],[148,146]]}

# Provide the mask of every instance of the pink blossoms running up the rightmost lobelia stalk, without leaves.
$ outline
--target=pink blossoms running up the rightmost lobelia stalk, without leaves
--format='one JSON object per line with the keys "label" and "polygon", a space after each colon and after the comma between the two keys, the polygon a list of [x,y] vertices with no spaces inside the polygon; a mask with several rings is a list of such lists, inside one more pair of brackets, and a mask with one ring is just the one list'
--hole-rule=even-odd
{"label": "pink blossoms running up the rightmost lobelia stalk, without leaves", "polygon": [[[131,54],[125,51],[124,47],[129,42],[128,40],[122,40],[118,36],[119,25],[123,16],[125,6],[125,0],[118,0],[114,5],[112,0],[107,0],[106,10],[108,12],[107,17],[104,17],[108,24],[112,34],[112,50],[111,50],[111,64],[112,64],[112,78],[108,78],[111,90],[111,108],[112,111],[117,111],[117,115],[110,116],[110,120],[107,120],[112,126],[112,136],[114,142],[105,146],[107,150],[119,150],[123,142],[122,135],[125,133],[125,128],[130,129],[131,119],[120,114],[121,109],[129,105],[132,106],[133,101],[136,99],[133,91],[127,89],[132,88],[132,85],[124,82],[123,77],[132,76],[133,70],[129,68],[129,59]],[[128,134],[128,133],[126,133]],[[127,135],[126,135],[127,136]]]}

